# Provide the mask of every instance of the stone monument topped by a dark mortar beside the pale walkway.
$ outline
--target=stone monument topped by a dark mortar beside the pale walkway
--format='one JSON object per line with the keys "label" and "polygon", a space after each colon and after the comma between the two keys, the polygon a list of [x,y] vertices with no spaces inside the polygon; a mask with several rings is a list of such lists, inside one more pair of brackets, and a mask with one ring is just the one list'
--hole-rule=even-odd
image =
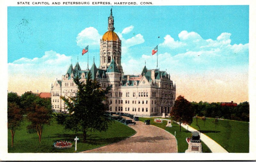
{"label": "stone monument topped by a dark mortar beside the pale walkway", "polygon": [[198,131],[192,132],[192,139],[188,142],[188,150],[185,153],[202,153],[202,143]]}

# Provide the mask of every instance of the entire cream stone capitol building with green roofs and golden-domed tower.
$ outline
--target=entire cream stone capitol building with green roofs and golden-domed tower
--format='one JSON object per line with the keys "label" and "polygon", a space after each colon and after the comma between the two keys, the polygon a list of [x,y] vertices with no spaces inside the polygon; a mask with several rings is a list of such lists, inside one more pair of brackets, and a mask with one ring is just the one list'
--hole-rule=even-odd
{"label": "entire cream stone capitol building with green roofs and golden-domed tower", "polygon": [[71,64],[62,80],[51,86],[52,109],[67,111],[60,96],[75,96],[77,88],[73,79],[77,75],[86,81],[87,74],[97,79],[103,88],[112,85],[108,93],[109,112],[123,112],[138,116],[168,115],[176,98],[176,86],[170,74],[159,69],[141,67],[139,75],[124,75],[121,65],[122,41],[114,32],[112,9],[108,17],[108,31],[100,39],[100,66],[93,61],[91,69],[82,70],[77,62]]}

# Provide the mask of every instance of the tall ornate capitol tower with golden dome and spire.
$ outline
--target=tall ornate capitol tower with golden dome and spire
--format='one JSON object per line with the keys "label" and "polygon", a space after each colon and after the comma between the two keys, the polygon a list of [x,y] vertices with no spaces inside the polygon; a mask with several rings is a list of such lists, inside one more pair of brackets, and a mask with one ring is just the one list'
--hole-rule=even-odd
{"label": "tall ornate capitol tower with golden dome and spire", "polygon": [[108,17],[108,31],[100,39],[100,69],[107,70],[111,61],[114,60],[116,66],[121,73],[121,78],[124,76],[123,67],[121,65],[121,40],[114,32],[114,17],[112,16],[112,8]]}

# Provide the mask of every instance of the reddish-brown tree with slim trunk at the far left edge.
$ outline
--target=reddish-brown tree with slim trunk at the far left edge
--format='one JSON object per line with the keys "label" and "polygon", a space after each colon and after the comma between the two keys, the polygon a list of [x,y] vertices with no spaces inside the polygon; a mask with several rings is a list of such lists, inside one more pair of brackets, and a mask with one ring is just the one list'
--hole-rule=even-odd
{"label": "reddish-brown tree with slim trunk at the far left edge", "polygon": [[20,127],[22,121],[22,113],[20,106],[16,102],[7,103],[7,120],[8,129],[11,130],[12,135],[12,147],[15,131]]}

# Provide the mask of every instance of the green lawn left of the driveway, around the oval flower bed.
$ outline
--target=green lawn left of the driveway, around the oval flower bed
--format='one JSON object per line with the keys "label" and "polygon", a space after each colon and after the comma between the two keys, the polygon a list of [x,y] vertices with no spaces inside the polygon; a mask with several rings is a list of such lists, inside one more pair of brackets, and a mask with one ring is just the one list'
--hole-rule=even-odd
{"label": "green lawn left of the driveway, around the oval flower bed", "polygon": [[[63,126],[57,124],[55,119],[52,119],[51,125],[44,126],[41,143],[39,143],[36,133],[27,133],[27,125],[28,122],[23,121],[20,127],[21,129],[16,130],[13,148],[11,147],[11,132],[10,130],[8,131],[8,152],[74,152],[74,138],[76,136],[79,138],[79,141],[77,142],[77,151],[84,151],[120,141],[136,133],[135,130],[127,125],[114,121],[109,129],[105,132],[88,132],[86,138],[87,142],[82,143],[82,132],[73,133],[71,131],[64,131]],[[53,143],[59,140],[71,141],[73,146],[67,149],[54,148]]]}

